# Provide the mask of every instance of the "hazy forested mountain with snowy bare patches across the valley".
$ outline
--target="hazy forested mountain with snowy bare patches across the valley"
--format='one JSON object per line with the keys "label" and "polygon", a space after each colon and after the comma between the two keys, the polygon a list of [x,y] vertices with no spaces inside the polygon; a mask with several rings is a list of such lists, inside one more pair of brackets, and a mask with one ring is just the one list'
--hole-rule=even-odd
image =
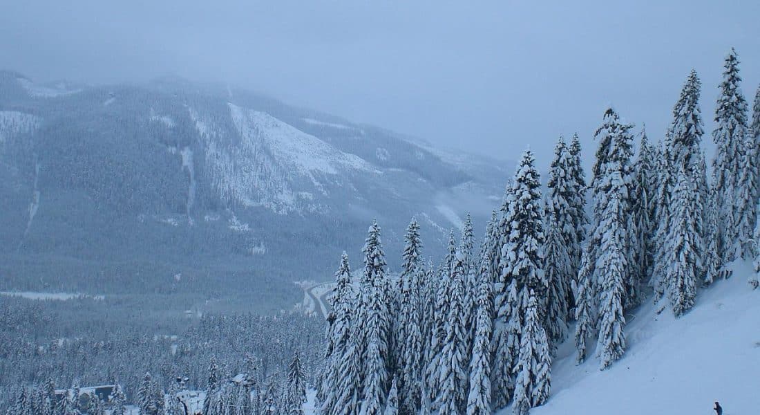
{"label": "hazy forested mountain with snowy bare patches across the valley", "polygon": [[466,212],[483,226],[512,165],[226,85],[0,72],[0,288],[327,279],[372,219],[395,260],[413,215],[438,256]]}

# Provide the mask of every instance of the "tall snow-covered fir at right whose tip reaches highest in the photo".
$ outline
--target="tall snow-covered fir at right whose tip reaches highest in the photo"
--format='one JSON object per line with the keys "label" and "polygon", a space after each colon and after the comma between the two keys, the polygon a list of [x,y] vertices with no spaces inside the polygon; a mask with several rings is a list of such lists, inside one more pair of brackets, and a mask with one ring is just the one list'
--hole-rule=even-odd
{"label": "tall snow-covered fir at right whose tip reaches highest in the photo", "polygon": [[720,205],[720,249],[724,263],[736,258],[739,245],[735,227],[738,212],[735,200],[736,187],[743,159],[743,142],[747,129],[747,103],[739,87],[739,59],[736,50],[731,49],[724,63],[723,81],[715,110],[713,141],[717,145],[713,161],[713,186]]}

